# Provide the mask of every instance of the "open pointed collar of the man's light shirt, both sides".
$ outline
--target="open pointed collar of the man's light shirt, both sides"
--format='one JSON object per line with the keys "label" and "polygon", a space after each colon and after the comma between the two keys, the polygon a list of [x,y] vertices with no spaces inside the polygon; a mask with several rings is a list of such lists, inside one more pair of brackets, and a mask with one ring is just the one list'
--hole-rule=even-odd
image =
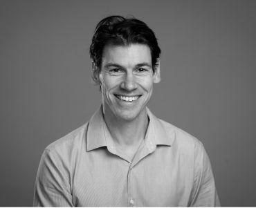
{"label": "open pointed collar of the man's light shirt, both sides", "polygon": [[[153,113],[149,111],[149,108],[147,108],[147,115],[149,117],[149,125],[145,135],[145,144],[148,149],[156,149],[156,145],[171,146],[175,139],[175,131],[172,129],[172,126],[169,126],[170,128],[164,126],[165,124],[155,117]],[[102,146],[107,146],[109,151],[115,153],[116,149],[113,144],[113,139],[104,122],[102,107],[94,113],[88,125],[86,150],[91,151]]]}

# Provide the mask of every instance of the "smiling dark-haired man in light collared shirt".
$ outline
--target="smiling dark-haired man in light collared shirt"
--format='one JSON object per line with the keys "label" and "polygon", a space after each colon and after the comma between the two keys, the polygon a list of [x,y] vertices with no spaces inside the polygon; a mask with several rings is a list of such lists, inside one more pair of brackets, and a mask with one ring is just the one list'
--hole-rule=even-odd
{"label": "smiling dark-haired man in light collared shirt", "polygon": [[102,106],[42,155],[35,206],[219,206],[199,140],[146,107],[160,82],[154,32],[138,19],[111,16],[90,48]]}

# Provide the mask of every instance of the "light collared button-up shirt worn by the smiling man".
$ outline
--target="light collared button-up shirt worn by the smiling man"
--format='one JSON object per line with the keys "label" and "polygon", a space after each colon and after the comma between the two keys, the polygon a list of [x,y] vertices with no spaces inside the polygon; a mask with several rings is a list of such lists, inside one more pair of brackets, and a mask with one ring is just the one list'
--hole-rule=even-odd
{"label": "light collared button-up shirt worn by the smiling man", "polygon": [[220,206],[208,155],[199,140],[155,117],[130,160],[116,148],[100,108],[42,155],[34,206]]}

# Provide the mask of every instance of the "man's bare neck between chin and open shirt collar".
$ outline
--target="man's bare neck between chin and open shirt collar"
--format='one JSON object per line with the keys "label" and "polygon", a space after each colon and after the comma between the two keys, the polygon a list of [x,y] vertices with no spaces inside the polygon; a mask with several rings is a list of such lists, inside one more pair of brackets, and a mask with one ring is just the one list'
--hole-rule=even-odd
{"label": "man's bare neck between chin and open shirt collar", "polygon": [[144,109],[134,120],[122,120],[105,112],[104,120],[113,140],[118,146],[138,146],[145,138],[148,126],[147,111]]}

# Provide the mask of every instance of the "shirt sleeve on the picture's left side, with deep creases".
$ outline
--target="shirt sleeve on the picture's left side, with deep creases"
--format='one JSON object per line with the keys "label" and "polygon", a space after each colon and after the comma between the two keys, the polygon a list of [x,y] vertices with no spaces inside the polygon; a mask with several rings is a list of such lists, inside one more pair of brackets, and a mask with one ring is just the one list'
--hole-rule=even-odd
{"label": "shirt sleeve on the picture's left side, with deep creases", "polygon": [[37,171],[34,207],[73,207],[68,177],[53,152],[46,149]]}

